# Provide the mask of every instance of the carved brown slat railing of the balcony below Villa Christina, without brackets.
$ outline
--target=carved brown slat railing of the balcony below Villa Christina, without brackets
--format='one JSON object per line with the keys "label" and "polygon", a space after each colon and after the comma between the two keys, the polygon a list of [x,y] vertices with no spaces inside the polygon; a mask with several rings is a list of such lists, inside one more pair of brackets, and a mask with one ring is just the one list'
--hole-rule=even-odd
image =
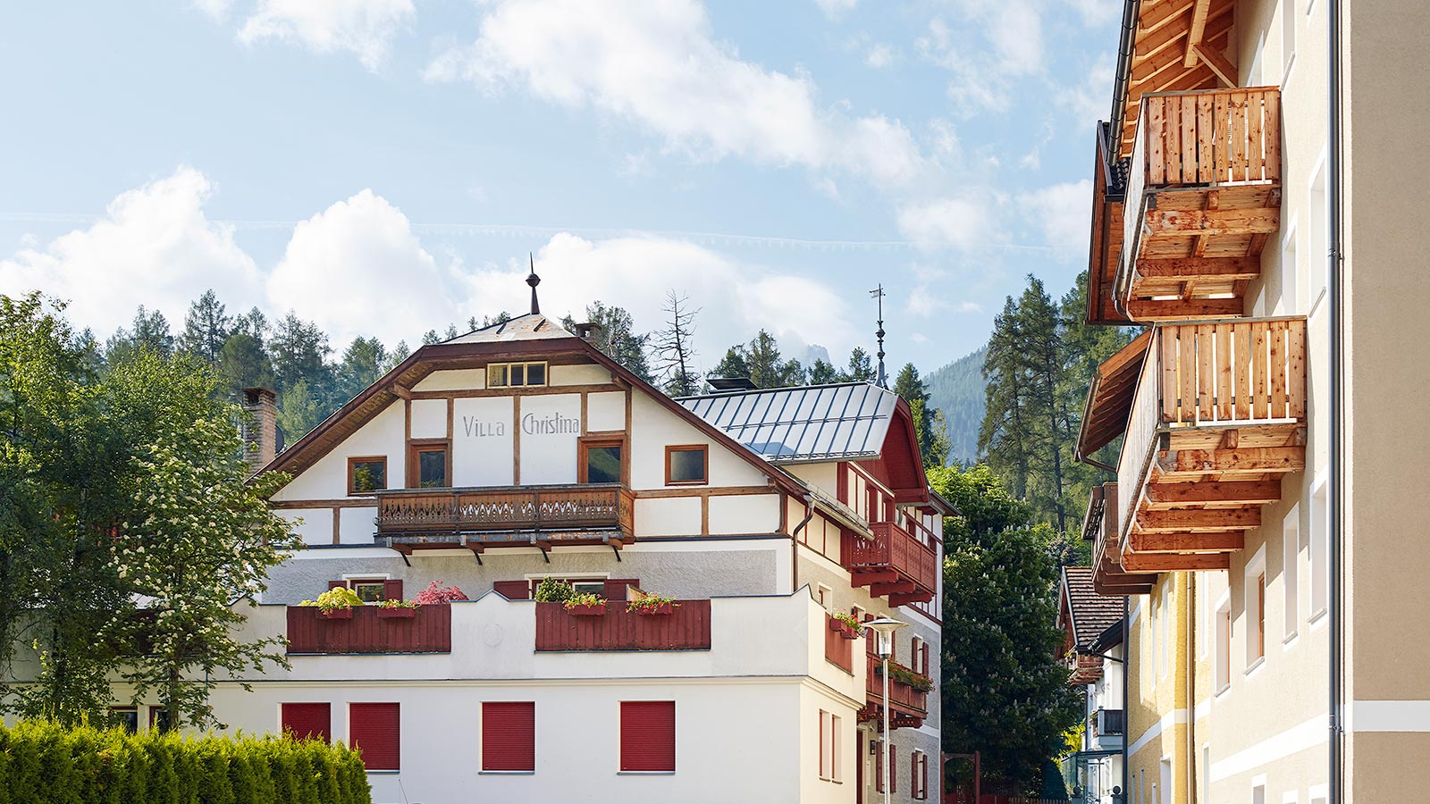
{"label": "carved brown slat railing of the balcony below Villa Christina, without brackets", "polygon": [[633,495],[615,484],[395,489],[378,494],[378,531],[633,529]]}

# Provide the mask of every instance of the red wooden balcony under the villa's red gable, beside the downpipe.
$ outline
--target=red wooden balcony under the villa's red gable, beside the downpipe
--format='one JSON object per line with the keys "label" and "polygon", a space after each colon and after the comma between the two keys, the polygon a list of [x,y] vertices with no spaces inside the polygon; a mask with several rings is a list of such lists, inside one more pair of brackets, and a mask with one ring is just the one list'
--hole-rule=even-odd
{"label": "red wooden balcony under the villa's red gable, beside the downpipe", "polygon": [[851,582],[874,597],[888,595],[889,605],[934,599],[940,571],[934,548],[894,522],[874,522],[869,529],[872,539],[845,532],[841,544]]}

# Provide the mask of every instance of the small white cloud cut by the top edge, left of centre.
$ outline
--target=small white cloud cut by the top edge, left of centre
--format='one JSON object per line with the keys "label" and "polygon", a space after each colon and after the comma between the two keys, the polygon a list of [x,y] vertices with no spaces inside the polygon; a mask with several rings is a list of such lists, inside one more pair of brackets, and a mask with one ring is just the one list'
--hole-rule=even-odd
{"label": "small white cloud cut by the top edge, left of centre", "polygon": [[[199,0],[222,9],[227,0]],[[210,11],[212,13],[212,11]],[[260,0],[239,41],[300,41],[317,53],[349,52],[376,70],[392,37],[416,17],[412,0]]]}

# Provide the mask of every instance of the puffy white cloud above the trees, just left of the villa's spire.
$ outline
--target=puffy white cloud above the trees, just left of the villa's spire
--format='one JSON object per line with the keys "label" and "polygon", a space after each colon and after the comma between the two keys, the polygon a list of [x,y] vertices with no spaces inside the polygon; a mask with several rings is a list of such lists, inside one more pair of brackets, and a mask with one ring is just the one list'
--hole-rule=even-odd
{"label": "puffy white cloud above the trees, just left of the villa's spire", "polygon": [[315,320],[339,349],[359,335],[416,345],[472,315],[460,263],[439,265],[408,216],[372,190],[300,222],[267,295],[272,310]]}

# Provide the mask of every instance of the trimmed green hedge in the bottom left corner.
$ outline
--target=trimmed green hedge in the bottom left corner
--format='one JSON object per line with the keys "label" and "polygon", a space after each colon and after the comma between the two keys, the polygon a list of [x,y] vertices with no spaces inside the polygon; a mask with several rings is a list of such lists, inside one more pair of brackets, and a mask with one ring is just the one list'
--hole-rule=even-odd
{"label": "trimmed green hedge in the bottom left corner", "polygon": [[372,804],[358,752],[317,740],[0,725],[0,804]]}

